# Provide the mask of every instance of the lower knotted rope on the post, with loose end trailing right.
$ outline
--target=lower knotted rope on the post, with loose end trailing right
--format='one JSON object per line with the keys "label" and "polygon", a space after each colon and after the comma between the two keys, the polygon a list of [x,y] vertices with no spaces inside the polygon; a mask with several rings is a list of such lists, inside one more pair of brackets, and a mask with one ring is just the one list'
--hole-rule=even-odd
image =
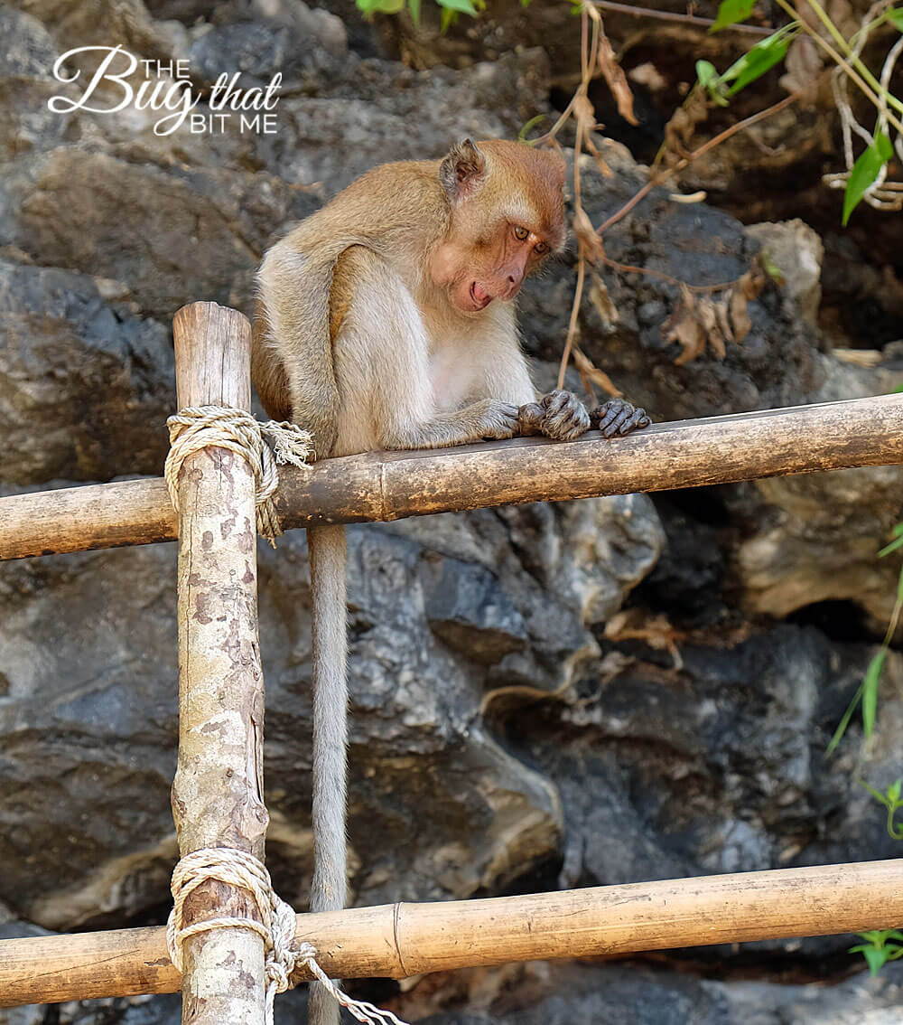
{"label": "lower knotted rope on the post, with loose end trailing right", "polygon": [[[220,917],[182,925],[182,911],[188,895],[207,879],[218,879],[241,887],[254,898],[260,920],[251,917]],[[266,1025],[272,1025],[276,993],[291,989],[292,973],[304,967],[324,984],[343,1007],[364,1025],[405,1025],[391,1011],[382,1011],[367,1000],[354,1000],[324,972],[316,962],[316,948],[310,943],[293,946],[295,912],[272,889],[269,872],[252,854],[232,848],[202,848],[185,855],[172,873],[173,907],[166,924],[166,945],[173,965],[182,971],[182,943],[212,929],[251,929],[263,939],[266,974]]]}

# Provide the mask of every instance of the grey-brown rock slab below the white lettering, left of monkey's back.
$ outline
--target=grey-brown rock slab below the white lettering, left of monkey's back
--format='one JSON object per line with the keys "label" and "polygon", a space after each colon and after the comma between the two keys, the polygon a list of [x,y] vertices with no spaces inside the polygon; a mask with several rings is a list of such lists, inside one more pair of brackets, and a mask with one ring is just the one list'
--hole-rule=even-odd
{"label": "grey-brown rock slab below the white lettering, left of monkey's back", "polygon": [[167,173],[60,148],[9,168],[0,242],[37,263],[123,280],[152,315],[169,319],[197,299],[250,311],[273,228],[311,209],[305,193],[262,172]]}

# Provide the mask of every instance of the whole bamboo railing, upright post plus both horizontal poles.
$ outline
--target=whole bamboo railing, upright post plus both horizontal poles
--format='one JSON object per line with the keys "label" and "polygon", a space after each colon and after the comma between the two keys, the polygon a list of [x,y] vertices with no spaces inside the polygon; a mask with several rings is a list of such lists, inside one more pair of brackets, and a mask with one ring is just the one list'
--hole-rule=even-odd
{"label": "whole bamboo railing, upright post plus both horizontal poles", "polygon": [[[179,311],[175,335],[179,402],[247,408],[247,321],[215,303],[195,303]],[[179,537],[180,742],[173,795],[180,850],[238,847],[262,857],[267,816],[255,546],[247,531],[216,529],[223,518],[253,524],[252,482],[241,457],[223,449],[189,459],[191,473],[179,480],[178,518],[160,479],[0,499],[0,559]],[[615,441],[592,432],[565,444],[518,439],[327,459],[304,469],[284,467],[276,508],[284,529],[291,529],[899,463],[903,397],[881,396],[658,424]],[[191,572],[183,572],[189,565]],[[204,616],[196,614],[201,577]],[[239,577],[236,588],[231,583]],[[209,614],[210,602],[221,616]],[[226,620],[228,638],[217,627]],[[214,722],[219,732],[205,730]],[[241,917],[253,913],[248,900],[241,889],[208,881],[191,894],[183,920]],[[401,978],[901,921],[898,859],[298,915],[296,939],[315,946],[332,976]],[[261,1025],[256,933],[227,928],[189,937],[184,977],[170,961],[163,934],[138,929],[4,940],[0,1007],[182,988],[183,1021]]]}

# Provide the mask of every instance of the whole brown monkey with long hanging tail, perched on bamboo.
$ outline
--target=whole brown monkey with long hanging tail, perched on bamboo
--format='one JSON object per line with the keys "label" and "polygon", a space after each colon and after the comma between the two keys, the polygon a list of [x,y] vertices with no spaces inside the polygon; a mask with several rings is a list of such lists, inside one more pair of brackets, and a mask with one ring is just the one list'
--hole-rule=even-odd
{"label": "whole brown monkey with long hanging tail, perched on bamboo", "polygon": [[[315,458],[440,448],[591,425],[568,392],[538,400],[514,302],[564,243],[564,161],[499,140],[385,164],[264,257],[252,372],[264,407],[310,432]],[[607,437],[649,420],[612,400]],[[308,530],[313,590],[312,911],[345,902],[346,625],[342,527]],[[311,989],[311,1020],[338,1009]],[[328,997],[326,999],[329,999]],[[335,1010],[333,1010],[335,1009]]]}

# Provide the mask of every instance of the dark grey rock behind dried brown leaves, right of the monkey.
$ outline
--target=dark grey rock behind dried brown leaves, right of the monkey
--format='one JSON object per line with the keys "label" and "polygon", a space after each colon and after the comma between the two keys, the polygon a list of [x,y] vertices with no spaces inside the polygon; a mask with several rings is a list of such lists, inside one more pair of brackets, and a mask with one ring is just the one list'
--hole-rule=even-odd
{"label": "dark grey rock behind dried brown leaves, right of the monkey", "polygon": [[[600,147],[614,176],[602,178],[585,158],[583,201],[595,224],[614,214],[645,181],[622,147],[601,140]],[[605,248],[621,263],[708,286],[736,281],[749,271],[760,243],[728,214],[705,204],[674,203],[668,190],[656,189],[606,232]],[[723,361],[709,351],[678,366],[674,361],[680,346],[666,341],[662,333],[679,299],[677,285],[607,268],[599,273],[617,320],[603,320],[586,290],[580,346],[631,402],[645,407],[654,419],[792,405],[821,385],[814,331],[784,309],[774,283],[766,283],[748,303],[751,329],[741,342],[728,343]],[[560,351],[558,311],[567,308],[570,290],[567,278],[551,275],[526,289],[521,309],[531,354],[550,360]]]}

